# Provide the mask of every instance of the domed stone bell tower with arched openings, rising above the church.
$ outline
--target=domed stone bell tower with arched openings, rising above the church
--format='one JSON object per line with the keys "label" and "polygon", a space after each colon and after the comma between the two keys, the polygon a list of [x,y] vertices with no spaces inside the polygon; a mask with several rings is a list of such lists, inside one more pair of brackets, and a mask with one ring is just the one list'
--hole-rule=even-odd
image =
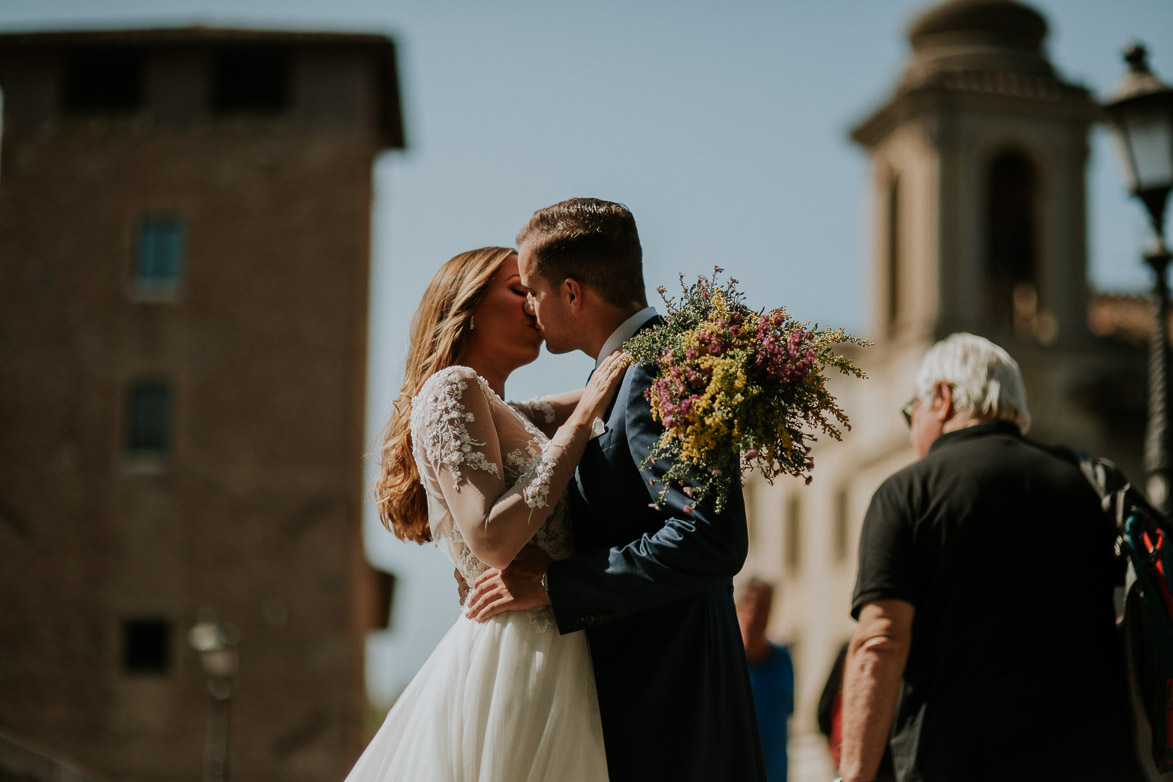
{"label": "domed stone bell tower with arched openings, rising above the church", "polygon": [[1086,335],[1085,169],[1097,108],[1011,0],[949,0],[909,29],[913,59],[852,137],[872,161],[877,341],[956,331]]}

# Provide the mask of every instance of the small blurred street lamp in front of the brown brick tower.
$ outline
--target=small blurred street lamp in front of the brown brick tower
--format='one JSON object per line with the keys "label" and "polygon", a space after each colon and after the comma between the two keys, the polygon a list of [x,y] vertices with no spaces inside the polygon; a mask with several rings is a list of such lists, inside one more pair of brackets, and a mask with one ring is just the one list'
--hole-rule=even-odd
{"label": "small blurred street lamp in front of the brown brick tower", "polygon": [[199,653],[199,665],[208,674],[208,694],[211,710],[208,716],[208,739],[204,744],[204,780],[222,782],[228,778],[229,706],[232,699],[232,678],[239,667],[237,644],[240,632],[229,623],[203,618],[188,631],[188,642]]}

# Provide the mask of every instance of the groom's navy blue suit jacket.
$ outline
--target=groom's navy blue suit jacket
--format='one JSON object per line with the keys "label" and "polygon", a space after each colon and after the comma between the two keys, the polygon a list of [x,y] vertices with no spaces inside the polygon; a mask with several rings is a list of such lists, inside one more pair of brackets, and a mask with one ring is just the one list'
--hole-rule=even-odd
{"label": "groom's navy blue suit jacket", "polygon": [[651,380],[628,369],[579,462],[577,553],[550,565],[554,613],[561,632],[586,630],[611,782],[765,781],[732,597],[748,548],[741,492],[720,514],[685,512],[679,490],[651,506],[666,468],[643,465],[663,431]]}

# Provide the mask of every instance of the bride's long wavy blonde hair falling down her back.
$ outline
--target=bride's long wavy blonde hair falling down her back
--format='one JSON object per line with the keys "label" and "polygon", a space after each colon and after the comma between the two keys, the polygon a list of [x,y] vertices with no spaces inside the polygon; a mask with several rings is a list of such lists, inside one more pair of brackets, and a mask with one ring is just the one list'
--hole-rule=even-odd
{"label": "bride's long wavy blonde hair falling down her back", "polygon": [[374,501],[379,519],[395,537],[432,539],[428,502],[412,456],[412,397],[423,382],[460,359],[473,329],[473,311],[515,250],[482,247],[452,258],[435,273],[412,318],[404,385],[382,429]]}

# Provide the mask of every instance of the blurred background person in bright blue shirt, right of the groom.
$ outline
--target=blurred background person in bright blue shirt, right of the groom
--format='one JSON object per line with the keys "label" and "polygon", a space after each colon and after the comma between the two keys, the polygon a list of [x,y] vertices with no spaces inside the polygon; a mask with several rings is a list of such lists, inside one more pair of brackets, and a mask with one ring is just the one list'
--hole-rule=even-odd
{"label": "blurred background person in bright blue shirt, right of the groom", "polygon": [[786,782],[787,720],[794,713],[794,664],[787,647],[766,638],[774,587],[751,578],[737,601],[741,642],[750,662],[750,685],[758,709],[758,730],[769,782]]}

